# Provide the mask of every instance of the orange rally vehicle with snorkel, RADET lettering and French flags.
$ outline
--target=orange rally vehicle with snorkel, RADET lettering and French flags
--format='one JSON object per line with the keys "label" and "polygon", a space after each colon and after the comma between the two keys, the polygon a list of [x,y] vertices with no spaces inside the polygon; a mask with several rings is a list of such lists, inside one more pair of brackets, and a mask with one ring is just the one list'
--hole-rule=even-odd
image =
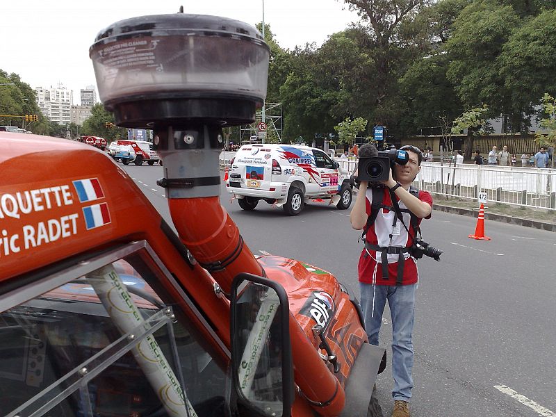
{"label": "orange rally vehicle with snorkel, RADET lettering and French flags", "polygon": [[154,129],[178,234],[99,149],[0,132],[0,415],[382,416],[357,300],[254,256],[219,202],[222,126],[265,97],[260,33],[138,17],[90,56],[116,123]]}

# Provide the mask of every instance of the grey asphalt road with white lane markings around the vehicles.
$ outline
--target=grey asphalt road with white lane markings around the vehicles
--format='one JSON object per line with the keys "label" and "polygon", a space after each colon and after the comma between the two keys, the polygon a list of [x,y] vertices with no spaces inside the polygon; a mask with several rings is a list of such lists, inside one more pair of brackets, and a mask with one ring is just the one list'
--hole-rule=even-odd
{"label": "grey asphalt road with white lane markings around the vehicles", "polygon": [[[124,169],[167,215],[156,186],[163,167]],[[361,243],[349,211],[313,203],[292,218],[265,202],[242,211],[224,187],[221,198],[253,252],[318,265],[359,295]],[[475,222],[434,211],[423,224],[423,238],[445,253],[440,263],[419,261],[411,416],[556,417],[556,235],[487,220],[492,240],[475,241]],[[386,346],[387,311],[383,321]],[[391,387],[389,366],[378,379],[384,416]]]}

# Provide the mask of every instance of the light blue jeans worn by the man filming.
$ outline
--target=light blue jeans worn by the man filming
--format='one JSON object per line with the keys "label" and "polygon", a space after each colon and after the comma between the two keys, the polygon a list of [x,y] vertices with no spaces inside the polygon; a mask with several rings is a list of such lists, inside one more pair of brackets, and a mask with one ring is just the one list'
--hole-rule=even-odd
{"label": "light blue jeans worn by the man filming", "polygon": [[413,378],[413,342],[411,332],[413,331],[415,316],[415,292],[417,284],[403,286],[377,285],[374,301],[373,314],[373,291],[371,284],[359,283],[361,290],[361,308],[365,318],[365,329],[369,343],[378,345],[378,334],[382,324],[382,313],[386,300],[390,306],[392,318],[392,377],[394,378],[394,389],[392,397],[394,400],[409,401]]}

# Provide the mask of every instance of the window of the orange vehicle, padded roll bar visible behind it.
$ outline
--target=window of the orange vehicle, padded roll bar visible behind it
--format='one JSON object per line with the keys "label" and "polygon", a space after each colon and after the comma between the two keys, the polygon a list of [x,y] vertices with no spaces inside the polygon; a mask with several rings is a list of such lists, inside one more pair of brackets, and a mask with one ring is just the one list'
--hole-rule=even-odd
{"label": "window of the orange vehicle, padded roll bar visible behind it", "polygon": [[1,416],[224,415],[224,371],[147,265],[74,268],[0,313]]}

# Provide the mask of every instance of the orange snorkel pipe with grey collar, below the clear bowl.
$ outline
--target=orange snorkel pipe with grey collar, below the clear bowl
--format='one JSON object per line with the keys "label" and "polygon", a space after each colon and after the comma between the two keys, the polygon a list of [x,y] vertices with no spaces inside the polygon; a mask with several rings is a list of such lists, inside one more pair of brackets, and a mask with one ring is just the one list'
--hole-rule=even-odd
{"label": "orange snorkel pipe with grey collar, below the clear bowl", "polygon": [[[164,167],[164,178],[158,184],[166,190],[170,214],[184,245],[222,291],[229,293],[238,273],[265,276],[265,272],[220,205],[220,127],[192,124],[179,129],[164,126],[155,131],[154,142]],[[301,395],[318,414],[338,416],[345,403],[343,387],[291,314],[289,329],[294,378]]]}

